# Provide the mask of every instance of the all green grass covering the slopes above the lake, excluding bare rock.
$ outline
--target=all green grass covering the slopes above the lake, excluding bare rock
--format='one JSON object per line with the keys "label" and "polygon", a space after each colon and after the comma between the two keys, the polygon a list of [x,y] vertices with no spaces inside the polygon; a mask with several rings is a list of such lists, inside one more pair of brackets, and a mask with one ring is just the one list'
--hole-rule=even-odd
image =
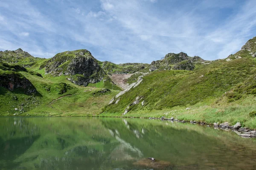
{"label": "all green grass covering the slopes above the lake, excluding bare rock", "polygon": [[[249,41],[252,44],[251,49],[255,50],[255,38]],[[59,67],[65,69],[69,59],[80,55],[80,52],[83,51],[65,51],[56,54],[56,61],[62,62]],[[17,59],[22,57],[20,54],[8,53],[14,58],[18,57]],[[86,54],[91,56],[89,51]],[[1,55],[2,59],[6,59],[6,54],[3,57],[2,52]],[[193,62],[192,66],[195,67],[193,71],[164,70],[171,69],[174,64],[180,67],[191,66],[190,63],[187,65],[188,60],[180,61],[178,55],[172,54],[170,57],[157,61],[156,65],[159,64],[160,68],[147,75],[145,73],[148,73],[148,64],[116,65],[112,62],[96,60],[109,74],[139,71],[128,78],[129,84],[136,82],[139,76],[145,75],[140,85],[120,96],[118,104],[115,104],[118,100],[115,99],[111,105],[108,105],[108,102],[121,89],[113,85],[107,75],[100,82],[82,87],[68,81],[66,76],[53,77],[45,74],[44,67],[47,67],[50,59],[23,57],[17,61],[18,64],[20,62],[27,64],[29,68],[1,62],[2,74],[4,71],[15,72],[15,74],[26,77],[37,89],[36,94],[26,95],[20,89],[8,91],[0,88],[1,115],[17,113],[22,116],[26,114],[33,116],[122,116],[129,106],[129,112],[125,116],[166,116],[208,123],[228,121],[230,124],[235,124],[240,122],[245,127],[256,128],[255,116],[249,114],[256,111],[256,59],[251,57],[249,51],[241,50],[230,55],[231,61],[218,59],[211,62],[205,61],[205,64],[199,62],[201,59],[198,58]],[[8,62],[12,61],[8,60]],[[37,73],[40,73],[42,77]],[[79,76],[76,75],[75,78]],[[94,74],[92,76],[97,77]],[[111,93],[95,95],[102,88],[111,89]],[[134,105],[137,97],[141,99],[138,104]],[[26,108],[21,107],[21,104],[26,105]],[[18,111],[15,111],[15,108]]]}

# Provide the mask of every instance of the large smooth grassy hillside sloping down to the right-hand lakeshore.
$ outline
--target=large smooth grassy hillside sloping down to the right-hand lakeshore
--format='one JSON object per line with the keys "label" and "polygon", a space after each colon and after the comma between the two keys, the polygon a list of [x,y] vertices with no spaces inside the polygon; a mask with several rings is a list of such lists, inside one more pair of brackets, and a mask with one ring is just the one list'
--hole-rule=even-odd
{"label": "large smooth grassy hillside sloping down to the right-hand lakeshore", "polygon": [[249,116],[256,111],[255,65],[251,51],[241,50],[228,59],[202,64],[195,71],[154,71],[107,105],[102,115],[122,116],[127,110],[125,116],[241,122],[256,128],[255,118]]}

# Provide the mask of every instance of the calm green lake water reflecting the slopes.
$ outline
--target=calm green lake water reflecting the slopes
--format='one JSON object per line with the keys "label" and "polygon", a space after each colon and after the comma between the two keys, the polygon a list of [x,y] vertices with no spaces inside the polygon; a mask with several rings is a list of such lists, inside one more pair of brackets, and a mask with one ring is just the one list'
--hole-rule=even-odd
{"label": "calm green lake water reflecting the slopes", "polygon": [[158,169],[255,170],[256,139],[152,119],[0,117],[0,170]]}

